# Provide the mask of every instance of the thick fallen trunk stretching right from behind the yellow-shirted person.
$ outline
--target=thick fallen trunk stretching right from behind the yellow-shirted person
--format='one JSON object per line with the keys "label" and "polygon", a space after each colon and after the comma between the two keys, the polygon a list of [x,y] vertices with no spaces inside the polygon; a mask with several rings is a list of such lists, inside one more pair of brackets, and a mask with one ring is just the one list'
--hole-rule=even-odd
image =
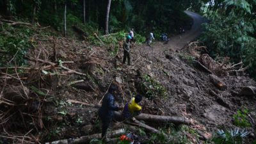
{"label": "thick fallen trunk stretching right from behind the yellow-shirted person", "polygon": [[[122,120],[122,114],[115,111],[116,120]],[[191,120],[185,117],[178,116],[163,116],[163,115],[150,115],[147,113],[141,113],[138,116],[134,116],[137,120],[143,120],[145,122],[170,122],[173,124],[191,124]]]}

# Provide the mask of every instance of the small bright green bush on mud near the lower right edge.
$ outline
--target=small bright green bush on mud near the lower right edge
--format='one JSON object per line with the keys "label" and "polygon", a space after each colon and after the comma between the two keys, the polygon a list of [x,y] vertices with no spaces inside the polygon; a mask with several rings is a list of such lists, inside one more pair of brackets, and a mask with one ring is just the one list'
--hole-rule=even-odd
{"label": "small bright green bush on mud near the lower right edge", "polygon": [[237,114],[233,115],[234,124],[237,127],[251,127],[252,125],[250,124],[247,115],[248,115],[248,109],[238,110]]}

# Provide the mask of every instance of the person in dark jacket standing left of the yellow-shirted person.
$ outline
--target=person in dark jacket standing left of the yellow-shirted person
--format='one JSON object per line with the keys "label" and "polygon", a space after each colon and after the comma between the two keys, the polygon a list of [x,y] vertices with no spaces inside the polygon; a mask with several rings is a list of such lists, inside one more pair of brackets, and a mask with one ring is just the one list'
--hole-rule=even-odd
{"label": "person in dark jacket standing left of the yellow-shirted person", "polygon": [[115,106],[115,96],[116,90],[117,90],[116,84],[111,84],[109,87],[108,93],[104,95],[104,98],[102,100],[102,105],[99,109],[99,117],[102,122],[102,139],[104,140],[106,138],[106,132],[108,130],[109,124],[113,120],[114,111],[118,111],[121,108],[118,108],[118,106]]}

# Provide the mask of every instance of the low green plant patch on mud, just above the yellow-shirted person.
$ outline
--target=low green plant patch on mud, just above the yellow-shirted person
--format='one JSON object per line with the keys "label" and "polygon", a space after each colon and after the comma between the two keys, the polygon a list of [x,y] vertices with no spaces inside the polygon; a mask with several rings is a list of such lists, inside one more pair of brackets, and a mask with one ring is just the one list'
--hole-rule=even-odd
{"label": "low green plant patch on mud, just above the yellow-shirted person", "polygon": [[153,99],[154,97],[167,97],[168,94],[166,88],[164,88],[161,83],[155,81],[148,75],[143,76],[141,89],[148,99]]}

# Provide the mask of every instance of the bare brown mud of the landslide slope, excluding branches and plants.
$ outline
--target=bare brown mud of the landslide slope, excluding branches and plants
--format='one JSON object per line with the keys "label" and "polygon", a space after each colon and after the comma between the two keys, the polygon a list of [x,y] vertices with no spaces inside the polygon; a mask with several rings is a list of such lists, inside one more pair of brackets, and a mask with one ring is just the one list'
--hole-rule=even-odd
{"label": "bare brown mud of the landslide slope, excluding branches and plants", "polygon": [[[124,106],[133,95],[140,92],[138,81],[145,75],[158,81],[166,88],[168,95],[167,97],[156,95],[153,99],[143,99],[141,102],[143,113],[186,116],[196,121],[190,127],[205,133],[236,127],[232,116],[241,108],[248,108],[255,120],[255,96],[239,95],[243,86],[256,87],[253,79],[247,74],[222,76],[219,78],[227,84],[227,89],[219,90],[211,83],[209,73],[193,61],[189,61],[186,43],[195,40],[200,34],[201,23],[200,18],[200,22],[194,22],[191,31],[174,36],[166,45],[162,42],[154,42],[152,47],[147,45],[132,47],[131,66],[122,64],[122,47],[116,56],[112,56],[106,47],[96,47],[84,41],[70,38],[38,40],[39,49],[29,52],[31,56],[38,56],[45,61],[53,60],[53,47],[55,47],[58,60],[74,61],[72,64],[63,64],[65,67],[86,74],[86,76],[59,74],[44,79],[44,84],[40,86],[54,95],[54,104],[45,102],[42,111],[44,116],[57,116],[57,119],[43,120],[45,134],[39,135],[45,138],[44,141],[75,138],[88,134],[83,131],[83,126],[88,124],[96,125],[91,133],[100,132],[97,108],[70,104],[66,100],[72,99],[97,105],[108,90],[109,84],[117,79],[122,81],[118,83],[119,93],[116,103]],[[199,30],[195,32],[198,28]],[[30,65],[37,65],[37,63],[30,61]],[[58,68],[52,68],[50,71],[54,72],[54,70]],[[27,77],[26,85],[35,84],[33,73]],[[84,90],[76,88],[76,84],[69,84],[81,79],[84,80],[82,83]],[[57,135],[52,134],[52,129],[58,129],[60,132],[57,132]],[[249,128],[248,131],[253,129]]]}

